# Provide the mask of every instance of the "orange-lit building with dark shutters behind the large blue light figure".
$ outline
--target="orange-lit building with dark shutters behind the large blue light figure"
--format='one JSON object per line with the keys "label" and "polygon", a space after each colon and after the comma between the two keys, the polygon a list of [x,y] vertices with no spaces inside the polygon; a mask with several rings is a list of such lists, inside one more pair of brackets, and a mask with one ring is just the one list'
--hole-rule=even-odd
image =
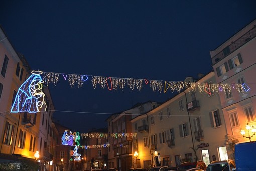
{"label": "orange-lit building with dark shutters behind the large blue light figure", "polygon": [[[50,164],[53,159],[50,153],[50,125],[54,111],[50,92],[48,87],[43,86],[45,96],[38,100],[42,102],[44,97],[45,105],[42,105],[40,112],[35,111],[37,104],[32,101],[31,106],[22,104],[26,98],[24,92],[29,92],[33,74],[25,57],[15,51],[3,28],[0,28],[0,63],[1,161],[14,163],[9,165],[13,169],[31,161],[32,166],[34,163],[41,170],[54,170]],[[34,77],[38,75],[34,74]],[[36,151],[39,151],[39,158],[35,158]]]}

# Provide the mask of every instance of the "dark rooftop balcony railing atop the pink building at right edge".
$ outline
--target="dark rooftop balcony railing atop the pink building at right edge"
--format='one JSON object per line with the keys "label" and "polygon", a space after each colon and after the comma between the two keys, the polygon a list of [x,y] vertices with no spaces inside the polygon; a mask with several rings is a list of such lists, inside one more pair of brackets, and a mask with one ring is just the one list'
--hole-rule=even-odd
{"label": "dark rooftop balcony railing atop the pink building at right edge", "polygon": [[217,55],[215,55],[212,58],[212,64],[217,63],[245,43],[249,42],[251,39],[256,37],[256,27],[253,27],[251,30],[249,30],[247,33],[242,35],[240,38],[238,38],[236,41],[232,42],[229,46],[225,47],[221,52],[219,52]]}

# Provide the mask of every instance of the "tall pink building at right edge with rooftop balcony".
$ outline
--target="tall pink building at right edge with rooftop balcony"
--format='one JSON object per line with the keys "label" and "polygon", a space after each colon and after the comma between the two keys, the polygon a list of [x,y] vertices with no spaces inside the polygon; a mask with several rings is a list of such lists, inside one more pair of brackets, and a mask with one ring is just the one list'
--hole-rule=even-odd
{"label": "tall pink building at right edge with rooftop balcony", "polygon": [[[227,134],[241,142],[255,141],[251,128],[256,124],[256,20],[210,52],[217,83],[232,84],[219,93]],[[235,89],[235,84],[242,84]],[[241,135],[244,130],[244,136]],[[248,137],[248,138],[246,138]]]}

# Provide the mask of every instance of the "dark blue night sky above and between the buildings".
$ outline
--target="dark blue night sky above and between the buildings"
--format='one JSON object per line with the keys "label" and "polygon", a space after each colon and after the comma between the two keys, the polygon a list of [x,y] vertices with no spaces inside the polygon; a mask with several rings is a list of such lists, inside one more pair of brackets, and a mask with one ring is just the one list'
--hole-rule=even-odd
{"label": "dark blue night sky above and between the buildings", "polygon": [[[183,81],[211,71],[209,51],[256,18],[256,1],[9,1],[0,24],[33,70]],[[60,80],[54,116],[72,131],[104,127],[109,113],[170,92],[109,91]],[[102,114],[103,113],[103,114]],[[77,123],[77,124],[75,124]]]}

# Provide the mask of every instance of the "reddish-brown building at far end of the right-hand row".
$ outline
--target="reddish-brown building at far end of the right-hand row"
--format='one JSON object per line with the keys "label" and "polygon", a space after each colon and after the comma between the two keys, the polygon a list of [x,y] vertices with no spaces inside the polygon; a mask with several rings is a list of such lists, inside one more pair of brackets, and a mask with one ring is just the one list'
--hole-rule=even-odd
{"label": "reddish-brown building at far end of the right-hand row", "polygon": [[[159,105],[156,102],[137,103],[132,108],[120,113],[111,115],[106,119],[108,122],[108,134],[133,133],[130,120],[140,116],[152,108]],[[108,167],[117,168],[119,170],[127,170],[129,168],[140,167],[140,162],[134,158],[134,152],[138,150],[138,141],[136,136],[109,136],[108,142]]]}

